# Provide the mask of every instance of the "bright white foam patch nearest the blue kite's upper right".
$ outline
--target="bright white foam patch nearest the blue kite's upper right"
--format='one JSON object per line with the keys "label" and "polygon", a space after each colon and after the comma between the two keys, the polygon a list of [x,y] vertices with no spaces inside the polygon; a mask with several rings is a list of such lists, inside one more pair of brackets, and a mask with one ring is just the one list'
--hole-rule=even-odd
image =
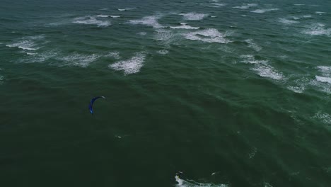
{"label": "bright white foam patch nearest the blue kite's upper right", "polygon": [[143,67],[145,57],[146,55],[144,53],[139,52],[129,60],[116,62],[115,64],[110,64],[108,67],[117,71],[123,71],[125,75],[135,74],[140,72],[141,67]]}

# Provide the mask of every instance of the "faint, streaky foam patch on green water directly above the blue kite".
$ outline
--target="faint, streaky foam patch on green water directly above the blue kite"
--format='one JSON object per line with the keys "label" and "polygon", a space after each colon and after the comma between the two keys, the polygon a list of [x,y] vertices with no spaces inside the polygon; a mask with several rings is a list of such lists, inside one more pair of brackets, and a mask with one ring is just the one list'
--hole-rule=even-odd
{"label": "faint, streaky foam patch on green water directly above the blue kite", "polygon": [[89,64],[98,60],[100,56],[98,55],[82,55],[82,54],[71,54],[66,57],[59,57],[58,60],[64,61],[64,65],[69,66],[79,66],[79,67],[88,67]]}

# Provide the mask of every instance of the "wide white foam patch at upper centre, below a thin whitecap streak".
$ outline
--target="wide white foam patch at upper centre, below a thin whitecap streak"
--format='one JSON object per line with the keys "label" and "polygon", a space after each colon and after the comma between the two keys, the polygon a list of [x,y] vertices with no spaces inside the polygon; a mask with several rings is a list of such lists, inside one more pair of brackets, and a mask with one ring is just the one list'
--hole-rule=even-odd
{"label": "wide white foam patch at upper centre, below a thin whitecap streak", "polygon": [[219,32],[219,30],[216,30],[214,28],[209,28],[205,30],[199,30],[192,33],[185,33],[185,38],[188,40],[199,40],[202,42],[219,42],[219,43],[227,43],[231,42],[230,40],[227,40],[226,35],[223,35]]}

